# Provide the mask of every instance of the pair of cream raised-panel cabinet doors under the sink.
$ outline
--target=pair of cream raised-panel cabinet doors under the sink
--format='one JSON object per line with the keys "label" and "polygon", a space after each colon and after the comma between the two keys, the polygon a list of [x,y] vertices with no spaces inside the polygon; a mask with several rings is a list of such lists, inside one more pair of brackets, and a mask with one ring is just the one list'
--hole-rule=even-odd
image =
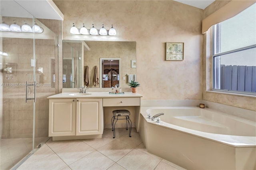
{"label": "pair of cream raised-panel cabinet doors under the sink", "polygon": [[102,134],[102,98],[49,100],[49,136],[95,134]]}

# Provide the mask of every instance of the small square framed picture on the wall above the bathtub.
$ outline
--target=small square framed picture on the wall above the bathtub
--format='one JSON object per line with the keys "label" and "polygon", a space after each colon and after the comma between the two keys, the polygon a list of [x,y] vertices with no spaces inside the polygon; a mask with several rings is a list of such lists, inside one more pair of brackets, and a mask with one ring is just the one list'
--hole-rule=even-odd
{"label": "small square framed picture on the wall above the bathtub", "polygon": [[166,42],[166,61],[184,60],[184,43]]}

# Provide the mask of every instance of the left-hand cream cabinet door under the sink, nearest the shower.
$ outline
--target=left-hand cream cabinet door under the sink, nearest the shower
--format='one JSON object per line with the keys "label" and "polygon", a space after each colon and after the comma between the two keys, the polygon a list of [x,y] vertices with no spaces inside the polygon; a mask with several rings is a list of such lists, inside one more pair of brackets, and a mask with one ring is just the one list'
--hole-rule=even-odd
{"label": "left-hand cream cabinet door under the sink, nearest the shower", "polygon": [[76,134],[76,99],[49,100],[49,136]]}

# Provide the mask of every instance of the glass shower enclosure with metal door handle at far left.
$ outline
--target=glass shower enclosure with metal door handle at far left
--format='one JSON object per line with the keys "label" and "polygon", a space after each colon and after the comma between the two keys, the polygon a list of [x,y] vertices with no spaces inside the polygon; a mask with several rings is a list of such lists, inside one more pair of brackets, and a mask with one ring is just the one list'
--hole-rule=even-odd
{"label": "glass shower enclosure with metal door handle at far left", "polygon": [[[46,97],[58,93],[58,36],[15,1],[0,3],[0,169],[4,170],[16,169],[49,139]],[[8,11],[14,6],[18,14]],[[6,25],[12,28],[6,30]]]}

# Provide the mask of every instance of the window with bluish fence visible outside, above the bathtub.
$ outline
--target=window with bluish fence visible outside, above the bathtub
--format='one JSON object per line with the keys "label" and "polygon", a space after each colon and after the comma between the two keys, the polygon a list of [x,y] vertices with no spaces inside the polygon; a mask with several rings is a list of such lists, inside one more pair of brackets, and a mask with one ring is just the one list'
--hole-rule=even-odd
{"label": "window with bluish fence visible outside, above the bathtub", "polygon": [[256,4],[213,26],[213,90],[256,95]]}

